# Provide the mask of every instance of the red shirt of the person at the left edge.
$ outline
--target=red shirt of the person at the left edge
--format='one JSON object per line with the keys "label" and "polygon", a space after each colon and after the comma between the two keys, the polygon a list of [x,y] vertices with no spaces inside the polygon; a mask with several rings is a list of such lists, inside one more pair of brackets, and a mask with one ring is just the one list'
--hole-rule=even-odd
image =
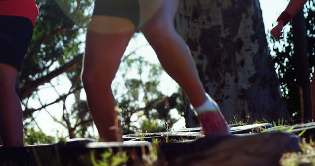
{"label": "red shirt of the person at the left edge", "polygon": [[0,0],[0,15],[25,17],[35,26],[38,13],[35,0]]}

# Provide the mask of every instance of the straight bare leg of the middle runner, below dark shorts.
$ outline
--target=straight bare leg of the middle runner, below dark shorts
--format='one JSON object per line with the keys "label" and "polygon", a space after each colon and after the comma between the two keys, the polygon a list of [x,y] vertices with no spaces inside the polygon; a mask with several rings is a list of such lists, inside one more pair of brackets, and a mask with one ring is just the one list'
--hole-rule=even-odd
{"label": "straight bare leg of the middle runner, below dark shorts", "polygon": [[108,16],[93,16],[88,28],[82,80],[102,141],[122,141],[111,83],[134,31],[130,20]]}

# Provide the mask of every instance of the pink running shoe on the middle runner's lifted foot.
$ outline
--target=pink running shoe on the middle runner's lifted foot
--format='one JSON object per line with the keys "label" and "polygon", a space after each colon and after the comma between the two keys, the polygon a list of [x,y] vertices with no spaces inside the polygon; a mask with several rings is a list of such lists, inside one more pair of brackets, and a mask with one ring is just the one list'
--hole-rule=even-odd
{"label": "pink running shoe on the middle runner's lifted foot", "polygon": [[201,131],[204,132],[205,136],[211,134],[231,134],[230,128],[220,109],[204,111],[197,117],[200,122]]}

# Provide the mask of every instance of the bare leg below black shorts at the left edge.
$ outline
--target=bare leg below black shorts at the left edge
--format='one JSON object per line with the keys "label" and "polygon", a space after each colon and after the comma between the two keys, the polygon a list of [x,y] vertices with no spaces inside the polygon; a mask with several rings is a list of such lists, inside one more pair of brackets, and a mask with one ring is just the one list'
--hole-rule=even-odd
{"label": "bare leg below black shorts at the left edge", "polygon": [[23,113],[15,92],[18,70],[0,63],[0,130],[4,146],[23,146]]}

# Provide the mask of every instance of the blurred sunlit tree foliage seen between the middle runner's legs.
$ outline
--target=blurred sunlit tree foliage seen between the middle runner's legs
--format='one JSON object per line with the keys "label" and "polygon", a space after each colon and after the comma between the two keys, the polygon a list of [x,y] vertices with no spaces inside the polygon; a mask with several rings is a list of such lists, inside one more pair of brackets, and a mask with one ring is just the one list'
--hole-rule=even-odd
{"label": "blurred sunlit tree foliage seen between the middle runner's legs", "polygon": [[[122,60],[124,67],[119,71],[124,84],[119,82],[113,85],[121,108],[123,134],[164,132],[163,119],[167,119],[171,125],[177,121],[170,117],[169,111],[178,106],[179,94],[166,96],[161,92],[159,84],[163,70],[160,65],[132,53],[126,57]],[[121,89],[124,92],[120,92]],[[132,120],[132,116],[136,116],[135,120]]]}

